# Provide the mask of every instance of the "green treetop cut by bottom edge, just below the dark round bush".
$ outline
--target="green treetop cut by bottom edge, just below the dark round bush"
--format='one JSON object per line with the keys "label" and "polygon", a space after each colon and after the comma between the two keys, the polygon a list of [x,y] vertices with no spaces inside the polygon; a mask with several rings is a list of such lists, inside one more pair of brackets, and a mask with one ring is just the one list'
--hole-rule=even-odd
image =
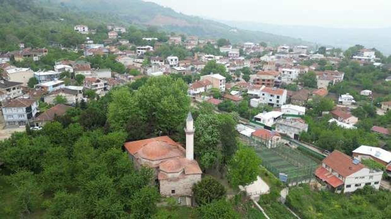
{"label": "green treetop cut by bottom edge, just below the dark round bush", "polygon": [[233,210],[233,206],[226,200],[213,201],[198,209],[202,219],[239,219],[239,214]]}

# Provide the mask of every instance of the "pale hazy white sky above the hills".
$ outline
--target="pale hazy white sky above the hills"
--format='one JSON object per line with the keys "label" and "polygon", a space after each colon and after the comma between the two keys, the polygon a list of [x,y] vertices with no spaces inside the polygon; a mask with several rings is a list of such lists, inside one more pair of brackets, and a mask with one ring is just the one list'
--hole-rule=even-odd
{"label": "pale hazy white sky above the hills", "polygon": [[278,25],[390,27],[391,0],[145,0],[203,18]]}

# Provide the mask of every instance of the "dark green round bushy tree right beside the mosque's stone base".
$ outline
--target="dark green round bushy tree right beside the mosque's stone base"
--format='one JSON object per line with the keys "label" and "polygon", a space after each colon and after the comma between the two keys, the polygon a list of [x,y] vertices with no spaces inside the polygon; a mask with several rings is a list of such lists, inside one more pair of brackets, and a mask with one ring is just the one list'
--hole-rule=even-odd
{"label": "dark green round bushy tree right beside the mosque's stone base", "polygon": [[219,181],[211,176],[204,177],[193,185],[193,196],[198,205],[207,205],[212,201],[225,197],[226,189]]}

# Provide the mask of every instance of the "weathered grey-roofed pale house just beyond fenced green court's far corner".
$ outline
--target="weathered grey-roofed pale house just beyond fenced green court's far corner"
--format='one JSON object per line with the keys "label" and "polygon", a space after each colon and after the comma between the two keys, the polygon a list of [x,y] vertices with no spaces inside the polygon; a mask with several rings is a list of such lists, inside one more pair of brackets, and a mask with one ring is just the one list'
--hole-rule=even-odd
{"label": "weathered grey-roofed pale house just beyond fenced green court's far corner", "polygon": [[294,140],[299,140],[301,132],[308,131],[308,124],[301,118],[288,118],[276,122],[276,132],[285,134]]}

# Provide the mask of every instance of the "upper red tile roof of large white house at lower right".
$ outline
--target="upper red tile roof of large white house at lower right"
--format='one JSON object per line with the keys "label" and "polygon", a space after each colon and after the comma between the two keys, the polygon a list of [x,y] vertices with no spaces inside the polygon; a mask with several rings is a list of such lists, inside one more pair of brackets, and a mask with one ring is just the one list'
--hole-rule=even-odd
{"label": "upper red tile roof of large white house at lower right", "polygon": [[330,155],[323,159],[323,163],[343,177],[348,177],[353,173],[365,168],[364,164],[353,164],[353,159],[338,151],[334,150]]}

